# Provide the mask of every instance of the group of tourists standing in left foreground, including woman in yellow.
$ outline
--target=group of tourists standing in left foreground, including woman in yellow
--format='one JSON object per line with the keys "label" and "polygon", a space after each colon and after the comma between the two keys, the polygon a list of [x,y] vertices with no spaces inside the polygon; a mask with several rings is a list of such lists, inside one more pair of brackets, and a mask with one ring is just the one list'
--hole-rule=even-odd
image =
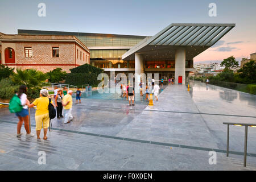
{"label": "group of tourists standing in left foreground, including woman in yellow", "polygon": [[[35,107],[35,122],[36,122],[36,135],[37,139],[40,140],[40,132],[43,129],[44,131],[44,140],[47,140],[47,130],[49,127],[49,105],[52,104],[53,107],[56,107],[57,110],[57,119],[64,118],[64,123],[69,123],[73,120],[72,116],[72,90],[68,90],[64,87],[63,90],[57,89],[55,87],[54,90],[54,99],[55,102],[49,98],[49,93],[47,89],[40,90],[40,97],[36,98],[36,100],[32,103],[27,99],[27,86],[22,85],[19,87],[18,93],[15,96],[18,96],[20,100],[20,105],[22,105],[22,110],[17,111],[15,115],[19,118],[19,122],[17,125],[17,135],[16,137],[20,137],[23,133],[20,132],[22,124],[24,122],[24,128],[26,130],[26,137],[34,137],[35,134],[31,133],[29,126],[29,118],[28,118],[28,107]],[[77,89],[76,91],[76,104],[78,104],[78,100],[81,104],[81,91]],[[11,105],[11,102],[10,102]],[[62,114],[64,109],[64,116]]]}

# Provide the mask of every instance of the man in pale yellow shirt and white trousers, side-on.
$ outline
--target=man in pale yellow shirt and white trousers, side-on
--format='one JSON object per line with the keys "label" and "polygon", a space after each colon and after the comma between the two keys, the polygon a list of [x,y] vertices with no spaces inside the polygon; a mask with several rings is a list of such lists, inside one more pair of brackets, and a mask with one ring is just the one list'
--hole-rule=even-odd
{"label": "man in pale yellow shirt and white trousers, side-on", "polygon": [[64,107],[64,123],[70,123],[73,120],[72,116],[72,90],[68,90],[68,94],[63,97],[62,105]]}

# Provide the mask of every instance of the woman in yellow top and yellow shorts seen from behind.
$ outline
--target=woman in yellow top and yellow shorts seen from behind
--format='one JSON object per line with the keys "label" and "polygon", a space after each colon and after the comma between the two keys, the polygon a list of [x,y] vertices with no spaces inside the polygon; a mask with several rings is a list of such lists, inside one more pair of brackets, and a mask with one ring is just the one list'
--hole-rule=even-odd
{"label": "woman in yellow top and yellow shorts seen from behind", "polygon": [[[43,139],[47,140],[46,134],[47,134],[47,129],[49,127],[48,95],[49,95],[48,90],[42,89],[40,90],[40,97],[36,98],[36,100],[32,104],[28,105],[28,107],[36,106],[35,121],[36,121],[36,135],[38,136],[38,140],[40,140],[42,123],[43,123],[43,129],[44,129]],[[55,107],[52,101],[51,101],[51,104]]]}

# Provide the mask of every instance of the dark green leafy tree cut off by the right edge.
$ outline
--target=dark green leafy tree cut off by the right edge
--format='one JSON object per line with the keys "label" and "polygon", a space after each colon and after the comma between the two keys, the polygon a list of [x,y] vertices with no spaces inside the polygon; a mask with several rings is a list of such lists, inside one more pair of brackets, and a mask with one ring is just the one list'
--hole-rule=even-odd
{"label": "dark green leafy tree cut off by the right edge", "polygon": [[239,77],[243,78],[246,83],[256,83],[256,60],[245,63],[244,67],[238,69]]}

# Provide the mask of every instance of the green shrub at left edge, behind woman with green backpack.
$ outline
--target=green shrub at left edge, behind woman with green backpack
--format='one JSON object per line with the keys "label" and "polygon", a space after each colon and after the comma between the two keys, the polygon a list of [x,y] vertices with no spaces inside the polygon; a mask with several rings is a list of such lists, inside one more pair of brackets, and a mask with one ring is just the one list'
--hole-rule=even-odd
{"label": "green shrub at left edge, behind woman with green backpack", "polygon": [[10,78],[3,78],[0,85],[0,98],[2,99],[10,99],[19,89],[19,86],[15,85]]}

